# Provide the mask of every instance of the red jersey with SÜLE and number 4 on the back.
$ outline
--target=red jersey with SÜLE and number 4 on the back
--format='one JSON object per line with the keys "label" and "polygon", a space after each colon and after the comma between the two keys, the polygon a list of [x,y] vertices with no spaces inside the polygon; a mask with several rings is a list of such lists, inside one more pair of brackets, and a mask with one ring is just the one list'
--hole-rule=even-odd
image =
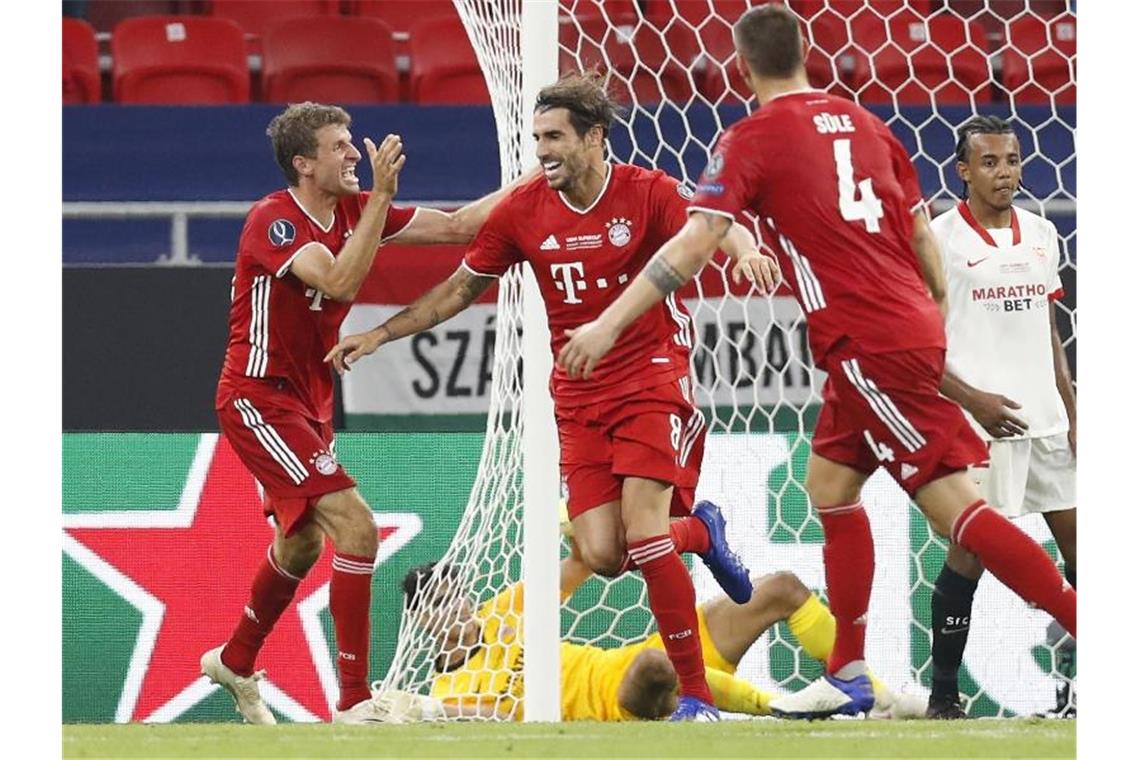
{"label": "red jersey with S\u00dcLE and number 4 on the back", "polygon": [[764,220],[825,367],[844,337],[873,352],[945,348],[911,247],[921,203],[914,166],[886,124],[806,90],[773,98],[720,136],[690,210],[748,209]]}

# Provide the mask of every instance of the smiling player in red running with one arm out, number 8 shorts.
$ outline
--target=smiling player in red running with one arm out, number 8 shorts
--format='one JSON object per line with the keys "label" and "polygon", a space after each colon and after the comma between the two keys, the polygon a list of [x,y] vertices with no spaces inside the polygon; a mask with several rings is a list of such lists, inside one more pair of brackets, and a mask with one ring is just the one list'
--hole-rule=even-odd
{"label": "smiling player in red running with one arm out, number 8 shorts", "polygon": [[[690,193],[661,171],[605,161],[614,106],[596,77],[572,74],[544,88],[535,140],[544,178],[513,190],[446,281],[383,325],[342,340],[327,359],[344,371],[380,345],[427,329],[469,307],[511,265],[534,268],[556,354],[565,330],[600,314],[685,222]],[[720,240],[734,276],[775,286],[775,262],[735,226]],[[589,382],[551,377],[575,534],[605,575],[641,570],[649,604],[681,680],[677,720],[718,717],[705,679],[693,582],[678,553],[701,555],[738,603],[748,570],[725,541],[724,517],[693,506],[705,448],[693,402],[692,320],[670,296],[628,330]],[[669,516],[679,520],[670,524]]]}

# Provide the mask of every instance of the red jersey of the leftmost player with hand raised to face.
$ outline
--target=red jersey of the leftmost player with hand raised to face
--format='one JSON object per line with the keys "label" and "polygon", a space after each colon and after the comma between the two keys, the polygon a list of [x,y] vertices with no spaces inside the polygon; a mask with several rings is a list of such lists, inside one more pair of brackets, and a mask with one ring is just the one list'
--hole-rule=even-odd
{"label": "red jersey of the leftmost player with hand raised to face", "polygon": [[[286,275],[309,244],[339,255],[367,201],[367,193],[341,198],[329,227],[310,216],[288,190],[271,193],[250,210],[234,263],[229,343],[214,399],[219,408],[237,394],[263,391],[263,381],[271,378],[277,402],[317,422],[332,419],[332,368],[324,359],[350,304]],[[382,239],[404,230],[415,212],[391,206]]]}

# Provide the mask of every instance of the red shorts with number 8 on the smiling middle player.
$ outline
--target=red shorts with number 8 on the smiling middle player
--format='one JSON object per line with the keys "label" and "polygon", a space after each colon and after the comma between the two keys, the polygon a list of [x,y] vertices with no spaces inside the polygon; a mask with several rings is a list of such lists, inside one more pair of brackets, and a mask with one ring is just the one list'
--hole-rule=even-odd
{"label": "red shorts with number 8 on the smiling middle player", "polygon": [[621,399],[556,409],[562,490],[571,520],[621,499],[628,476],[674,484],[670,514],[687,515],[705,458],[705,415],[689,377]]}

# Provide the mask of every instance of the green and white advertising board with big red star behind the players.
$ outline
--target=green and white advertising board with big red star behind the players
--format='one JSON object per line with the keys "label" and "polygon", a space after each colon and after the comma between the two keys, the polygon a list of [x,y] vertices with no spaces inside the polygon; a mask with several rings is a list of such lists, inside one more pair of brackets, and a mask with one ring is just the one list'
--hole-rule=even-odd
{"label": "green and white advertising board with big red star behind the players", "polygon": [[[408,569],[438,558],[451,540],[481,446],[479,433],[339,438],[339,455],[376,510],[381,534],[374,676],[384,673],[393,654],[400,580]],[[754,567],[792,570],[819,589],[822,534],[803,491],[808,446],[796,434],[714,435],[701,489],[732,493],[725,504],[750,537],[746,558]],[[724,464],[744,450],[758,455],[754,471]],[[68,433],[63,466],[64,720],[236,719],[228,695],[198,678],[197,659],[229,635],[271,540],[253,479],[215,433]],[[888,479],[872,479],[868,495],[879,549],[869,659],[880,676],[898,684],[929,656],[928,635],[914,624],[929,624],[929,587],[915,580],[920,571],[937,571],[944,548],[930,540],[917,509]],[[1043,530],[1034,536],[1045,538]],[[1052,542],[1045,546],[1056,558]],[[302,583],[259,661],[270,684],[262,693],[282,719],[327,719],[335,698],[329,556],[326,551]],[[716,594],[705,569],[698,563],[692,570],[698,598]],[[609,606],[595,607],[601,590],[593,580],[575,595],[572,608],[593,610],[569,631],[564,608],[564,635],[593,638],[606,631],[602,645],[612,645],[644,630],[640,582],[629,579],[616,595],[610,591]],[[975,711],[1031,712],[1034,696],[1051,696],[1049,654],[1032,644],[1047,616],[1015,604],[988,580],[978,596],[978,608],[994,615],[1004,610],[1004,623],[980,627],[971,637],[966,684],[983,690]],[[819,665],[801,660],[791,641],[784,626],[773,629],[741,673],[769,689],[805,685]],[[995,652],[1002,654],[986,656]],[[928,678],[929,669],[922,672]]]}

